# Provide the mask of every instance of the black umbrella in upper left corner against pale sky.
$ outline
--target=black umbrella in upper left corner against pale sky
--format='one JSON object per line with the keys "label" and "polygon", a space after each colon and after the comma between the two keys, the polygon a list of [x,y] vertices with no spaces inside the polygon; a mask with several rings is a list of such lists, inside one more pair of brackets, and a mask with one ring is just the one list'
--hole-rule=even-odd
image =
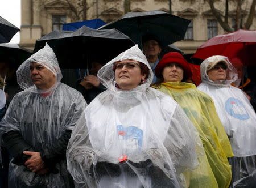
{"label": "black umbrella in upper left corner against pale sky", "polygon": [[0,43],[10,42],[18,31],[19,28],[0,16]]}

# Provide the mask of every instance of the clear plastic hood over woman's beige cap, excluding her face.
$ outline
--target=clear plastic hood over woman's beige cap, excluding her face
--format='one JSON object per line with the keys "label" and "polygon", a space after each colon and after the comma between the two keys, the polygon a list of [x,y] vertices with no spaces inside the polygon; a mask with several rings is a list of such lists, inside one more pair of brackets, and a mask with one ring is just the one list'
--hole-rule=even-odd
{"label": "clear plastic hood over woman's beige cap, excluding her face", "polygon": [[[210,80],[209,76],[207,75],[208,67],[209,67],[210,63],[214,63],[214,62],[222,61],[222,60],[225,61],[226,63],[228,63],[228,68],[226,69],[226,80],[217,80],[217,81]],[[215,55],[215,56],[205,59],[200,65],[200,72],[201,72],[202,82],[211,84],[214,86],[230,85],[232,82],[236,81],[238,78],[237,70],[230,63],[229,59],[227,57],[221,56],[221,55]]]}

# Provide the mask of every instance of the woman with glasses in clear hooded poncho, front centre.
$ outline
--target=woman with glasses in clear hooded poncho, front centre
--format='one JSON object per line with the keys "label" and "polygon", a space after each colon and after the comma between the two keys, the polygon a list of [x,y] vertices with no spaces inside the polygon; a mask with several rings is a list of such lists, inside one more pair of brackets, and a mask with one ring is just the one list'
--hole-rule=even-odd
{"label": "woman with glasses in clear hooded poncho, front centre", "polygon": [[77,187],[183,186],[200,139],[179,105],[149,87],[153,73],[138,45],[97,76],[108,90],[84,110],[67,148]]}

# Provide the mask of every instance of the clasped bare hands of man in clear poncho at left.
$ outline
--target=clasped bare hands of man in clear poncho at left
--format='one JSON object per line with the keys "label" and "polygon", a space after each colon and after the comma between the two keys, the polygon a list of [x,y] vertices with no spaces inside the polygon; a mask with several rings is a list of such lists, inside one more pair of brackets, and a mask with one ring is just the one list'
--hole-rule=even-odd
{"label": "clasped bare hands of man in clear poncho at left", "polygon": [[30,156],[25,162],[25,166],[27,166],[31,172],[38,172],[39,170],[42,170],[46,167],[39,152],[23,151],[23,153]]}

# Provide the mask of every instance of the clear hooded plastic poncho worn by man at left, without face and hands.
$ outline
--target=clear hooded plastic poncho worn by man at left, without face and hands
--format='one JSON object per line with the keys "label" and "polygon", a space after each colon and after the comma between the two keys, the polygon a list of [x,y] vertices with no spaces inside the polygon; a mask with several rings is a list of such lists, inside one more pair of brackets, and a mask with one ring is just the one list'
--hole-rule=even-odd
{"label": "clear hooded plastic poncho worn by man at left, without face and hands", "polygon": [[[37,62],[56,75],[56,83],[42,91],[30,79],[30,63]],[[61,72],[53,50],[46,46],[28,58],[17,70],[18,83],[24,91],[17,93],[0,123],[0,133],[18,131],[35,151],[47,153],[65,130],[72,130],[86,107],[81,93],[60,83]],[[59,173],[38,175],[23,165],[9,165],[9,187],[72,187],[67,161],[55,164]]]}

